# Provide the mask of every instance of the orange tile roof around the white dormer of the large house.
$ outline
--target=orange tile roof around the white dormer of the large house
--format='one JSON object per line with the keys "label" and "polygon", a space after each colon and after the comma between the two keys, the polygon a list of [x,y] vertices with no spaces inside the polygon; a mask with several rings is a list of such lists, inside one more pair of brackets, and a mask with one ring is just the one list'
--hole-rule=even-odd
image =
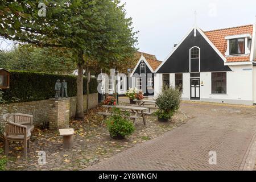
{"label": "orange tile roof around the white dormer of the large house", "polygon": [[[233,28],[224,28],[220,30],[204,31],[204,34],[210,39],[214,46],[225,56],[227,40],[225,36],[250,34],[253,35],[253,25],[246,25]],[[226,56],[228,62],[249,61],[250,56]]]}

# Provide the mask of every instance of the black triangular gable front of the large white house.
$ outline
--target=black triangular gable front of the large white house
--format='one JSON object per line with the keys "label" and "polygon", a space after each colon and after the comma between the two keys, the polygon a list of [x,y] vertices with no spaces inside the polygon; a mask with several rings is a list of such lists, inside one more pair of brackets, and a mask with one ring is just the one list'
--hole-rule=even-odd
{"label": "black triangular gable front of the large white house", "polygon": [[[196,30],[196,36],[194,36],[192,30],[156,73],[188,73],[189,51],[195,46],[200,48],[200,72],[232,71],[224,65],[224,61],[200,32]],[[193,71],[193,65],[191,66],[191,72],[196,72]]]}

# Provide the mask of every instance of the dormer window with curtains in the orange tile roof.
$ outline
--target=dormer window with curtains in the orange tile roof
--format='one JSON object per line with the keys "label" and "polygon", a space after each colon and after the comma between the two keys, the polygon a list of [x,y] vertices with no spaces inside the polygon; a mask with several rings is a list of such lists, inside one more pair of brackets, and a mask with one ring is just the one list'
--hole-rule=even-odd
{"label": "dormer window with curtains in the orange tile roof", "polygon": [[245,39],[230,39],[230,55],[240,55],[245,53]]}

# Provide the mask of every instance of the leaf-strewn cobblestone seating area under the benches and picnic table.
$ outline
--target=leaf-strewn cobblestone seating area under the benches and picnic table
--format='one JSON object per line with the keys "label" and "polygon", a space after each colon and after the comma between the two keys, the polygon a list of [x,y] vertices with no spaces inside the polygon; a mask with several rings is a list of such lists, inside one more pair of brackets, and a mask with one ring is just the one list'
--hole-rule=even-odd
{"label": "leaf-strewn cobblestone seating area under the benches and picnic table", "polygon": [[[75,129],[73,137],[74,147],[72,150],[63,150],[62,138],[56,132],[49,130],[35,129],[32,132],[33,140],[30,142],[30,151],[28,158],[23,159],[23,150],[15,150],[20,147],[19,142],[10,143],[10,155],[7,160],[7,169],[11,170],[79,170],[85,166],[91,166],[102,162],[115,154],[133,147],[137,143],[142,143],[141,138],[146,134],[150,138],[156,138],[162,133],[171,130],[173,127],[183,125],[188,121],[183,111],[175,114],[175,122],[159,123],[155,117],[147,118],[147,125],[144,126],[142,119],[138,119],[135,127],[136,130],[130,137],[123,140],[114,140],[110,138],[108,129],[101,127],[102,117],[96,114],[97,111],[104,111],[102,108],[90,110],[89,117],[85,117],[85,122],[71,121],[71,127]],[[86,121],[89,122],[86,122]],[[163,127],[166,125],[166,127]],[[136,141],[136,143],[134,143]],[[1,147],[1,144],[0,144]],[[38,165],[38,152],[46,152],[47,165]],[[65,156],[64,155],[68,155]],[[17,159],[17,156],[20,156]],[[0,154],[1,157],[1,154]],[[68,162],[64,162],[67,159]],[[85,163],[84,160],[90,160]],[[82,163],[84,166],[80,165]],[[33,165],[31,165],[33,164]]]}

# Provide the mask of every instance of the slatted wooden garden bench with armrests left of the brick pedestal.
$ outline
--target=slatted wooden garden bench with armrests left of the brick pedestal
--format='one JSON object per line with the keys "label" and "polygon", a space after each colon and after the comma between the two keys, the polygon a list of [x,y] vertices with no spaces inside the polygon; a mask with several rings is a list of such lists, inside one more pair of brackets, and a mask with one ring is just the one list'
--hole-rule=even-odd
{"label": "slatted wooden garden bench with armrests left of the brick pedestal", "polygon": [[5,154],[9,154],[9,141],[23,142],[24,158],[27,158],[27,148],[30,148],[31,131],[34,129],[33,116],[28,114],[4,114],[6,122],[5,133]]}

